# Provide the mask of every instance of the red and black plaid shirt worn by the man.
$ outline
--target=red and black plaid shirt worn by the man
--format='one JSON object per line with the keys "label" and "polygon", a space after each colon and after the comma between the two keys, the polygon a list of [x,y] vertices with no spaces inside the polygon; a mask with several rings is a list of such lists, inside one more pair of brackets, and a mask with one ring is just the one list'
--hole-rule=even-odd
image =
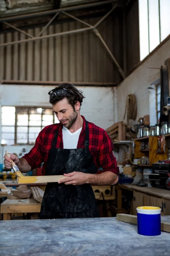
{"label": "red and black plaid shirt worn by the man", "polygon": [[[79,141],[77,148],[85,147],[85,118],[82,116],[84,122],[82,126],[82,131],[79,135]],[[54,135],[56,129],[59,127],[57,144],[56,148],[63,148],[62,140],[62,127],[61,123],[48,125],[40,131],[34,147],[29,151],[28,154],[25,154],[25,158],[28,164],[31,166],[31,169],[35,169],[41,166],[42,173],[45,174],[45,168],[48,158],[49,150],[52,146],[54,140]],[[119,167],[116,163],[116,158],[113,156],[113,143],[111,138],[108,136],[105,130],[99,128],[91,122],[88,122],[89,127],[89,151],[93,156],[93,161],[97,168],[101,167],[105,172],[110,171],[119,174]]]}

